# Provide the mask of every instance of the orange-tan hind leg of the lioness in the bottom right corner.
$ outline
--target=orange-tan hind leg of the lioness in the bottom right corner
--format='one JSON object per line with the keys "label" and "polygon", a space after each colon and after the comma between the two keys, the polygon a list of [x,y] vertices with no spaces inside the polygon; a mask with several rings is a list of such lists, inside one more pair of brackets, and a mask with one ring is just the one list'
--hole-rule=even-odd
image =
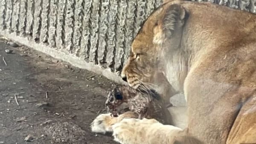
{"label": "orange-tan hind leg of the lioness in the bottom right corner", "polygon": [[227,144],[256,144],[256,96],[241,108],[232,126]]}

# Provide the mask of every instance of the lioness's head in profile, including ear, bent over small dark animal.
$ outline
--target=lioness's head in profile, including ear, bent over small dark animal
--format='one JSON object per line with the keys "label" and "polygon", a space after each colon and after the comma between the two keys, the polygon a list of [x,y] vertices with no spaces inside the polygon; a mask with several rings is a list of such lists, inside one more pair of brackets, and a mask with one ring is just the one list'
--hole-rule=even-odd
{"label": "lioness's head in profile, including ear, bent over small dark animal", "polygon": [[179,48],[187,14],[179,3],[165,3],[155,10],[132,42],[121,76],[134,89],[154,83],[157,73],[163,72],[165,53]]}

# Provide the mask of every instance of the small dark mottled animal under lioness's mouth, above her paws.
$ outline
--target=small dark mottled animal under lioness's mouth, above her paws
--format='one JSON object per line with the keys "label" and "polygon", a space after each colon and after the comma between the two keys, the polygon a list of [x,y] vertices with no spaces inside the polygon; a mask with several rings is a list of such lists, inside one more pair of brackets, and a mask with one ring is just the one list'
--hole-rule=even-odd
{"label": "small dark mottled animal under lioness's mouth, above her paws", "polygon": [[115,86],[109,93],[106,106],[116,114],[116,108],[127,103],[131,112],[136,112],[139,119],[155,118],[163,124],[172,124],[172,118],[164,101],[154,90],[139,91],[130,86]]}

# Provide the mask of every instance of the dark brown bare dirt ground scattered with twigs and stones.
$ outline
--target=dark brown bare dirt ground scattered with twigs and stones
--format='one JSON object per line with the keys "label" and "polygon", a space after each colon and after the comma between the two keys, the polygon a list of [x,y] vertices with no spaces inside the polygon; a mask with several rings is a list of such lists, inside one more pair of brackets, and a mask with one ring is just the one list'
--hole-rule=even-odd
{"label": "dark brown bare dirt ground scattered with twigs and stones", "polygon": [[41,52],[0,43],[0,144],[117,144],[90,131],[96,115],[106,112],[113,84]]}

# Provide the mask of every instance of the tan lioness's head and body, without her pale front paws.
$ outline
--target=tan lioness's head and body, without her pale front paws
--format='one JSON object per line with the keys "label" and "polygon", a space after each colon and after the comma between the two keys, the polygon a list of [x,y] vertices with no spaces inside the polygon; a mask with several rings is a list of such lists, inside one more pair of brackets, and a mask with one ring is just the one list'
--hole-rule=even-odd
{"label": "tan lioness's head and body, without her pale front paws", "polygon": [[163,73],[184,92],[188,129],[206,144],[256,143],[256,15],[172,1],[145,21],[122,78],[135,89]]}

